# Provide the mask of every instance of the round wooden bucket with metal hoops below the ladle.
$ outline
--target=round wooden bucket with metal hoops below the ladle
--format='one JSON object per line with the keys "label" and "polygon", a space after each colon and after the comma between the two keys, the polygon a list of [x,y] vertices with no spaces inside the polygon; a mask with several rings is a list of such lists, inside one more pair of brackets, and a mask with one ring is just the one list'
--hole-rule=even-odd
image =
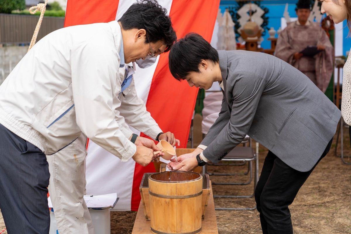
{"label": "round wooden bucket with metal hoops below the ladle", "polygon": [[149,177],[151,232],[201,232],[202,176],[194,172],[161,172]]}

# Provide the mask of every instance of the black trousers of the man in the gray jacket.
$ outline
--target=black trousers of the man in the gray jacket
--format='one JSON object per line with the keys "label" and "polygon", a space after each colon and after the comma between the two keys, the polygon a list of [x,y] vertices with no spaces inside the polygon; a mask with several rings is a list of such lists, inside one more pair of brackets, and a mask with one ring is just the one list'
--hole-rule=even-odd
{"label": "black trousers of the man in the gray jacket", "polygon": [[[331,143],[332,140],[318,162],[329,152]],[[299,172],[286,165],[272,152],[268,152],[255,190],[263,234],[293,233],[288,206],[294,201],[314,167],[308,172]]]}

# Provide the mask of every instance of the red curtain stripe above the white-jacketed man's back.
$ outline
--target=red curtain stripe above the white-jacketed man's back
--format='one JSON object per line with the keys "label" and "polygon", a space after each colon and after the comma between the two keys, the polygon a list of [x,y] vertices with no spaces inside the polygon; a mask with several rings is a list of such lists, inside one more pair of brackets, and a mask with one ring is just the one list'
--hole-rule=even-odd
{"label": "red curtain stripe above the white-jacketed man's back", "polygon": [[119,0],[68,0],[64,27],[115,20]]}

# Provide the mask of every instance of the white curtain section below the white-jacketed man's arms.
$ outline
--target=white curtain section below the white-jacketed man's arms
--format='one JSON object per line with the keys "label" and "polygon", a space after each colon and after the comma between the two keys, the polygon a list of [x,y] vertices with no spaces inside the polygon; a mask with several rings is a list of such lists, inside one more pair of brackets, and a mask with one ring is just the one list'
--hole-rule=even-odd
{"label": "white curtain section below the white-jacketed man's arms", "polygon": [[121,162],[119,158],[89,142],[86,160],[86,194],[117,193],[113,210],[130,210],[135,162]]}

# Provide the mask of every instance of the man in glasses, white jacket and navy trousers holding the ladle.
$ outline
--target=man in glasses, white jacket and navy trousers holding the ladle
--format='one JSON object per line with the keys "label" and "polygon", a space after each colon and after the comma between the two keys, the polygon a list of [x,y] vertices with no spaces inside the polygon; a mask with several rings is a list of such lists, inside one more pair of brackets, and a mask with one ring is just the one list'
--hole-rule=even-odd
{"label": "man in glasses, white jacket and navy trousers holding the ladle", "polygon": [[144,0],[127,10],[125,21],[59,29],[38,41],[2,83],[0,209],[9,234],[48,233],[46,155],[87,136],[122,161],[145,166],[159,156],[157,147],[128,135],[123,117],[153,139],[175,143],[136,95],[125,105],[134,92],[125,65],[168,51],[176,40],[165,14],[156,1]]}

